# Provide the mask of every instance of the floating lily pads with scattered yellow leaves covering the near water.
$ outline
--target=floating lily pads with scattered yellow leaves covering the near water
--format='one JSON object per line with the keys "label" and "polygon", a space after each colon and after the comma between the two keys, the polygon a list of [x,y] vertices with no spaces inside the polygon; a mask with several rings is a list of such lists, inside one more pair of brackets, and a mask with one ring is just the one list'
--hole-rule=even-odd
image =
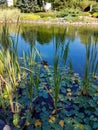
{"label": "floating lily pads with scattered yellow leaves covering the near water", "polygon": [[[56,106],[54,105],[55,86],[53,67],[35,64],[38,73],[38,89],[32,82],[32,100],[27,80],[17,86],[20,110],[12,113],[6,107],[1,114],[6,122],[17,129],[27,130],[97,130],[98,129],[98,88],[92,85],[89,95],[81,94],[81,78],[72,74],[68,68],[59,68],[60,91]],[[35,71],[32,73],[36,78]],[[37,78],[36,78],[37,79]],[[36,80],[35,79],[35,80]],[[36,81],[37,82],[37,81]],[[34,83],[34,84],[33,84]],[[96,81],[97,83],[97,81]],[[4,95],[7,103],[8,99]],[[31,104],[31,105],[30,105]],[[55,108],[56,107],[56,108]]]}

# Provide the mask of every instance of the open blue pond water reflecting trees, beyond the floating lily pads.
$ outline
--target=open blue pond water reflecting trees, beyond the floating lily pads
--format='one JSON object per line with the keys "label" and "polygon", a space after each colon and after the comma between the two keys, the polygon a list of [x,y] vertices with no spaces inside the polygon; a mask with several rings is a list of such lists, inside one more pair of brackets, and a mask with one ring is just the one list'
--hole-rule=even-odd
{"label": "open blue pond water reflecting trees, beyond the floating lily pads", "polygon": [[[18,27],[9,26],[12,38],[18,34]],[[48,65],[54,64],[55,55],[59,57],[59,66],[70,66],[73,71],[84,74],[87,61],[87,48],[93,56],[98,49],[98,27],[89,26],[51,26],[51,25],[21,25],[18,34],[18,55],[29,53],[31,48],[37,48],[42,59]],[[5,46],[5,45],[2,45]],[[90,46],[90,47],[89,47]],[[93,48],[93,53],[92,53]],[[91,54],[92,53],[92,54]],[[97,62],[97,58],[93,62]],[[92,60],[89,58],[89,63]],[[37,59],[39,62],[39,59]]]}

